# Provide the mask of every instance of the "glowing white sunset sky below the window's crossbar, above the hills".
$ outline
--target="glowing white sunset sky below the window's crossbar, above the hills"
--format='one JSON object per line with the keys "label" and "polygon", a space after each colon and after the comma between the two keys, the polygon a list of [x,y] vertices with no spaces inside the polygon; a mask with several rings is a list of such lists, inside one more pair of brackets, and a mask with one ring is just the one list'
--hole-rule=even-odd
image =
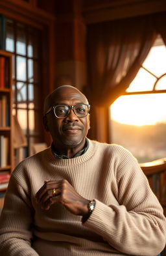
{"label": "glowing white sunset sky below the window's crossbar, above the hills", "polygon": [[121,96],[111,106],[111,117],[121,124],[143,126],[166,123],[166,94]]}

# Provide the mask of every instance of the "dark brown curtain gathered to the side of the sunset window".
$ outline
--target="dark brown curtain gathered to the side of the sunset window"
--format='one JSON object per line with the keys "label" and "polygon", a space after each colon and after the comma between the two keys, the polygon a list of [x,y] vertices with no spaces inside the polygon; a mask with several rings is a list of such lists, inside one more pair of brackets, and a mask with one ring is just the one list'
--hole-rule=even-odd
{"label": "dark brown curtain gathered to the side of the sunset window", "polygon": [[108,106],[135,78],[156,38],[152,16],[88,25],[89,137],[109,141]]}

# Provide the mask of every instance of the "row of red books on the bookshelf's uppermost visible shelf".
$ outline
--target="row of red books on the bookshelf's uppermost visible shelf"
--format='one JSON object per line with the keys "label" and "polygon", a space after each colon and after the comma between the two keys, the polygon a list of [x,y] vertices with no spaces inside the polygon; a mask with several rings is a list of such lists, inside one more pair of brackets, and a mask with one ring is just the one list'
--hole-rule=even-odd
{"label": "row of red books on the bookshelf's uppermost visible shelf", "polygon": [[8,63],[7,59],[0,56],[0,88],[8,88]]}

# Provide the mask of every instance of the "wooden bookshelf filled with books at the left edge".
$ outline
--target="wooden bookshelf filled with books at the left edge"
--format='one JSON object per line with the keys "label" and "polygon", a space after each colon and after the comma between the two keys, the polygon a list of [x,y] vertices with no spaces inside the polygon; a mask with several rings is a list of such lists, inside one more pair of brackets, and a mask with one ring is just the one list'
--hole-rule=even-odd
{"label": "wooden bookshelf filled with books at the left edge", "polygon": [[12,54],[0,50],[0,199],[13,168]]}

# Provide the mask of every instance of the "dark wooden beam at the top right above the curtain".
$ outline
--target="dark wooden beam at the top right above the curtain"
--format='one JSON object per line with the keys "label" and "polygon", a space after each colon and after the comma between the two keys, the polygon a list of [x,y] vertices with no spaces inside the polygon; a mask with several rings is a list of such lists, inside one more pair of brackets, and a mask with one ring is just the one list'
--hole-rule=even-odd
{"label": "dark wooden beam at the top right above the curtain", "polygon": [[84,1],[82,14],[86,23],[96,23],[163,12],[165,0]]}

